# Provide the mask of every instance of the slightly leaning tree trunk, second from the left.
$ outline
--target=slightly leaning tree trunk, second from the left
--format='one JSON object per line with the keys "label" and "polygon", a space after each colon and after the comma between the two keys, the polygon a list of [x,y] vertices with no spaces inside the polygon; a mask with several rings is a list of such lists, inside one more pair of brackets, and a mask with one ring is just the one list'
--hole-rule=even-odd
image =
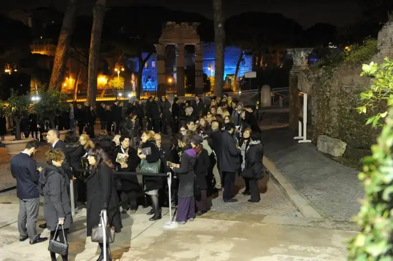
{"label": "slightly leaning tree trunk, second from the left", "polygon": [[97,74],[100,55],[102,26],[104,24],[106,0],[97,0],[93,9],[89,51],[89,73],[87,79],[87,103],[94,106],[97,97]]}

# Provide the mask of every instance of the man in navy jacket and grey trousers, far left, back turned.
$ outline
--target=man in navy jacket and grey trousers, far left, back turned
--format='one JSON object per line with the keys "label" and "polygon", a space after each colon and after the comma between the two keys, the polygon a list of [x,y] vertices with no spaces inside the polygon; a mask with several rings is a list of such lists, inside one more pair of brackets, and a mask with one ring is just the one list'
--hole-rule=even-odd
{"label": "man in navy jacket and grey trousers, far left, back turned", "polygon": [[40,204],[39,172],[37,162],[32,157],[37,148],[36,141],[29,141],[25,150],[11,159],[11,174],[16,179],[16,195],[19,199],[19,241],[30,238],[30,244],[48,239],[48,237],[40,237],[36,227]]}

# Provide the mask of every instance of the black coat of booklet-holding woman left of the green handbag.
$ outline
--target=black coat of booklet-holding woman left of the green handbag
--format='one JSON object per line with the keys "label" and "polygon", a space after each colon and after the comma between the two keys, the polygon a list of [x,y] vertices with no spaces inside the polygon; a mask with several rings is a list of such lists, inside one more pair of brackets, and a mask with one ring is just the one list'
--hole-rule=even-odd
{"label": "black coat of booklet-holding woman left of the green handbag", "polygon": [[[113,153],[113,162],[115,163],[116,170],[118,172],[135,172],[138,164],[139,164],[139,157],[137,150],[133,147],[129,147],[128,149],[128,159],[127,159],[127,168],[122,169],[120,164],[116,162],[117,154],[123,153],[121,150],[121,146],[117,147]],[[140,191],[140,185],[138,182],[137,175],[121,175],[116,174],[115,179],[120,180],[121,182],[121,190],[122,191]],[[118,188],[117,188],[118,189]]]}

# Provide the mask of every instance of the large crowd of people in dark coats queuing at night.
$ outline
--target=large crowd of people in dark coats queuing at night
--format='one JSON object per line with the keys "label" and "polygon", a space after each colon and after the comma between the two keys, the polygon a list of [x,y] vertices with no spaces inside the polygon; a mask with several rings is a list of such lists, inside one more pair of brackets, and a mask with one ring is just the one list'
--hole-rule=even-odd
{"label": "large crowd of people in dark coats queuing at night", "polygon": [[[260,201],[263,144],[252,106],[227,96],[213,97],[209,104],[198,96],[183,102],[174,98],[170,104],[163,96],[161,100],[149,97],[145,108],[141,101],[125,105],[117,100],[98,109],[86,105],[70,108],[71,131],[65,140],[60,140],[57,129],[47,133],[51,145],[45,154],[47,166],[37,168],[35,141],[11,159],[20,202],[20,241],[29,239],[35,244],[47,240],[36,230],[40,196],[46,223],[39,227],[51,231],[50,239],[66,241],[73,223],[70,181],[76,211],[86,208],[87,236],[100,223],[103,209],[116,232],[122,228],[121,214],[133,214],[139,206],[151,206],[147,212],[150,221],[162,218],[162,207],[174,206],[179,224],[194,221],[210,209],[214,193],[222,193],[225,203],[237,201],[232,193],[236,174],[244,179],[242,194],[251,196],[249,202]],[[93,142],[96,115],[101,130],[98,141]],[[168,135],[168,127],[172,136],[164,146],[162,135]],[[168,172],[174,178],[170,188],[165,177],[154,175]],[[168,206],[168,189],[173,206]],[[51,258],[56,260],[54,252]],[[62,256],[63,261],[67,259]],[[98,260],[103,260],[103,252]]]}

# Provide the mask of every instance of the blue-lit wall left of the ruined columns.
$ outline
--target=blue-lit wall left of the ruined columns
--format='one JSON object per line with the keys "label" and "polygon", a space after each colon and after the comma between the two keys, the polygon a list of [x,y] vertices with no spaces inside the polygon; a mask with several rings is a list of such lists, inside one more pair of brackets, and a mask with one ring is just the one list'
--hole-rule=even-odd
{"label": "blue-lit wall left of the ruined columns", "polygon": [[[146,58],[148,55],[147,52],[142,53],[142,58]],[[138,72],[139,68],[139,60],[138,58],[130,58],[133,61],[134,72]],[[147,60],[145,66],[142,71],[142,91],[151,92],[157,91],[157,61],[156,54],[153,53],[150,58]]]}

